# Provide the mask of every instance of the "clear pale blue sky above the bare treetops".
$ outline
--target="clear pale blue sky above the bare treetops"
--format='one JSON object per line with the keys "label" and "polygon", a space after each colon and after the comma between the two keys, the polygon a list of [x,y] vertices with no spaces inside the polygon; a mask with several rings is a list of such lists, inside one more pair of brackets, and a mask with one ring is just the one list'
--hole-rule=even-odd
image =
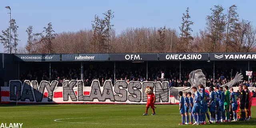
{"label": "clear pale blue sky above the bare treetops", "polygon": [[[9,26],[10,6],[12,18],[19,26],[19,45],[27,41],[26,28],[33,26],[34,32],[41,32],[44,26],[52,22],[55,32],[77,31],[91,28],[94,15],[103,18],[102,13],[114,11],[114,24],[117,34],[127,27],[162,27],[178,30],[182,13],[190,8],[192,29],[198,32],[206,26],[206,16],[210,8],[222,5],[225,9],[236,4],[240,18],[256,21],[254,14],[256,0],[0,0],[0,30]],[[227,10],[225,10],[226,12]],[[2,34],[2,32],[1,32]],[[0,44],[0,52],[3,52]]]}

